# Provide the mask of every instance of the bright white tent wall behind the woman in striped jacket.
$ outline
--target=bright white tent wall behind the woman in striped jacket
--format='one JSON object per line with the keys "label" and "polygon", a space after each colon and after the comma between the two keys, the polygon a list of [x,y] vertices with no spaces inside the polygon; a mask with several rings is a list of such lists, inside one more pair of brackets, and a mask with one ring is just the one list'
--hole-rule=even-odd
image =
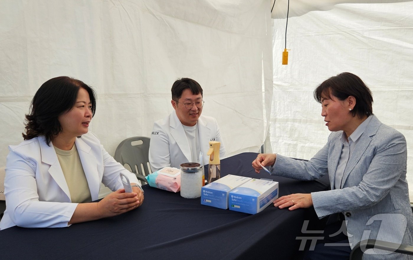
{"label": "bright white tent wall behind the woman in striped jacket", "polygon": [[267,148],[271,143],[273,152],[311,159],[330,134],[313,90],[331,76],[354,73],[373,93],[373,113],[406,137],[413,201],[413,2],[346,3],[312,12],[294,10],[290,3],[288,65],[281,63],[287,0],[277,1],[274,9],[273,18],[278,12],[282,19],[273,20],[274,99]]}

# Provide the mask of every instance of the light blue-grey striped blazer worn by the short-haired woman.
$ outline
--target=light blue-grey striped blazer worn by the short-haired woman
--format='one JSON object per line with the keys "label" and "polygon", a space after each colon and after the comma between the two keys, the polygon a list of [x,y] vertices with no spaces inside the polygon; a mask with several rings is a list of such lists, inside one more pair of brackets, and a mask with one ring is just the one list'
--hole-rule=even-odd
{"label": "light blue-grey striped blazer worn by the short-haired woman", "polygon": [[[364,239],[413,244],[413,215],[406,181],[407,148],[403,134],[382,124],[375,115],[349,158],[342,189],[334,189],[342,151],[342,131],[332,132],[327,144],[309,162],[277,155],[272,174],[313,180],[328,174],[331,190],[312,192],[318,218],[343,213],[353,248]],[[381,220],[381,221],[374,221]],[[411,259],[407,255],[369,255],[367,259]]]}

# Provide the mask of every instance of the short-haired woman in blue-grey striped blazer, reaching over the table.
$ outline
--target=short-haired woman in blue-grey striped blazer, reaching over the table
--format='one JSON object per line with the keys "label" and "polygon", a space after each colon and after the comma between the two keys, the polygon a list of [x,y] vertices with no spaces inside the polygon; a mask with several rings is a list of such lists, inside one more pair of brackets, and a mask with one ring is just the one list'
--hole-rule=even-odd
{"label": "short-haired woman in blue-grey striped blazer, reaching over the table", "polygon": [[[354,74],[330,77],[314,97],[333,131],[327,144],[308,162],[277,154],[260,154],[252,162],[257,173],[261,165],[271,165],[271,174],[300,180],[329,175],[331,190],[274,201],[274,206],[289,210],[314,206],[318,218],[330,216],[324,239],[304,259],[348,259],[351,248],[364,239],[412,245],[406,139],[373,115],[370,89]],[[380,253],[366,251],[363,259],[411,259]]]}

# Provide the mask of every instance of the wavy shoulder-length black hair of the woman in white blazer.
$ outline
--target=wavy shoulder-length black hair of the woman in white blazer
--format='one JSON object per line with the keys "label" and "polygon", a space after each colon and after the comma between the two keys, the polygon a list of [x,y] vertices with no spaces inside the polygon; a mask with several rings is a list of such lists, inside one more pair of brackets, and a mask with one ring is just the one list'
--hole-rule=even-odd
{"label": "wavy shoulder-length black hair of the woman in white blazer", "polygon": [[81,80],[71,77],[54,77],[41,85],[33,97],[30,111],[26,114],[24,140],[45,136],[47,145],[62,131],[57,117],[71,110],[79,89],[89,93],[92,116],[96,111],[95,91]]}

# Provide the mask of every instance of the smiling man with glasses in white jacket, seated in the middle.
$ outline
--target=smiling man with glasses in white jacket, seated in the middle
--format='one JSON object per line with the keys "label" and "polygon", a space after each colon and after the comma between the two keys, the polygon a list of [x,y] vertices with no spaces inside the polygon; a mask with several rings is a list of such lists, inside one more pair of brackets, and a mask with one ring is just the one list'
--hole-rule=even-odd
{"label": "smiling man with glasses in white jacket, seated in the middle", "polygon": [[209,141],[221,142],[220,158],[225,155],[218,123],[214,117],[201,115],[202,87],[190,78],[181,78],[172,85],[172,106],[175,111],[154,123],[149,146],[152,171],[166,166],[180,168],[185,162],[208,164]]}

